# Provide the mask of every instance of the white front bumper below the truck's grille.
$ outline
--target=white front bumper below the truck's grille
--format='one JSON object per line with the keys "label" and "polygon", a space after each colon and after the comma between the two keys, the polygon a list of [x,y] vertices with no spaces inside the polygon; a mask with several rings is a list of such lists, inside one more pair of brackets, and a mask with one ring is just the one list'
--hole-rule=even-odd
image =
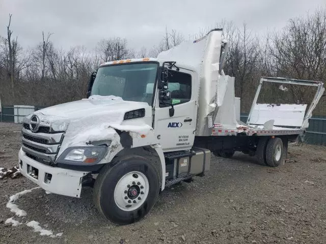
{"label": "white front bumper below the truck's grille", "polygon": [[[69,197],[80,197],[82,178],[89,172],[41,164],[27,157],[21,148],[18,159],[21,174],[35,182],[45,191]],[[34,175],[35,172],[37,172],[37,176]]]}

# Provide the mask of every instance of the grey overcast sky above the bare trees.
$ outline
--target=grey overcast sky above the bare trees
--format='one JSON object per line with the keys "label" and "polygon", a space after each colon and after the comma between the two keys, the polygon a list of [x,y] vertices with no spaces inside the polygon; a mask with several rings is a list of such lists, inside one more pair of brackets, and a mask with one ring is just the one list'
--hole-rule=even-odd
{"label": "grey overcast sky above the bare trees", "polygon": [[168,29],[186,39],[222,19],[241,25],[246,21],[255,33],[281,29],[289,18],[326,7],[325,0],[0,0],[0,36],[6,35],[12,14],[13,35],[23,47],[34,47],[42,31],[54,33],[56,47],[93,48],[102,38],[122,37],[130,48],[151,48]]}

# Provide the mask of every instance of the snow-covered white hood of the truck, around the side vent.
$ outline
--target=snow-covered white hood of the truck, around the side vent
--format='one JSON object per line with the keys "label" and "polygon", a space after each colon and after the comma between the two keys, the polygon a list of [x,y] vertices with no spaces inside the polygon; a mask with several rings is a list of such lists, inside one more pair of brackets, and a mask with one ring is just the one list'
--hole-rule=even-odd
{"label": "snow-covered white hood of the truck, around the side vent", "polygon": [[[127,125],[128,120],[122,123],[126,112],[141,108],[145,109],[145,117],[152,116],[152,107],[148,103],[124,101],[115,96],[91,96],[44,108],[34,114],[39,116],[41,125],[51,126],[55,131],[66,131],[59,157],[70,146],[85,146],[100,140],[118,142],[120,138],[115,129],[147,135],[153,129],[145,123],[146,119],[139,119],[136,125]],[[24,119],[27,121],[31,116]]]}

